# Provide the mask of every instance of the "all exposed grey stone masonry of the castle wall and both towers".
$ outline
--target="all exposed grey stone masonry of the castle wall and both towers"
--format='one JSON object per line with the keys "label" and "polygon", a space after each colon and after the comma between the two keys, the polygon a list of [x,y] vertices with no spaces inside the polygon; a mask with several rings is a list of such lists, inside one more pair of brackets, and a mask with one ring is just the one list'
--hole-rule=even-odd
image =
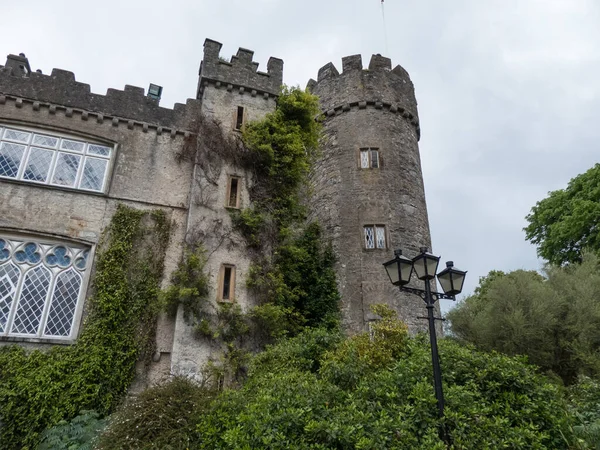
{"label": "all exposed grey stone masonry of the castle wall and both towers", "polygon": [[[248,206],[255,180],[222,158],[218,149],[203,147],[207,136],[198,135],[198,124],[203,116],[218,121],[224,133],[235,135],[242,121],[273,111],[283,61],[270,58],[266,72],[261,72],[252,51],[240,48],[226,61],[220,50],[220,43],[206,40],[196,98],[173,109],[160,107],[135,86],[93,94],[71,72],[31,72],[24,55],[9,55],[6,65],[0,66],[0,128],[96,142],[112,148],[112,158],[101,192],[21,181],[6,173],[2,176],[0,167],[0,239],[4,234],[24,241],[40,237],[77,243],[90,248],[93,261],[95,247],[119,203],[159,208],[174,224],[165,283],[182,257],[186,240],[201,239],[209,255],[212,298],[216,301],[219,295],[222,268],[232,266],[235,301],[243,309],[253,306],[255,299],[245,287],[250,259],[243,239],[232,229],[226,206],[231,206],[232,178],[239,184],[237,207],[241,208]],[[386,302],[416,328],[416,316],[421,315],[418,301],[392,289],[381,267],[394,247],[416,252],[430,241],[418,152],[420,128],[408,74],[400,66],[392,70],[390,60],[379,55],[373,56],[368,70],[363,70],[360,56],[350,56],[343,59],[342,73],[330,63],[319,71],[317,81],[309,82],[309,88],[319,95],[325,116],[322,157],[311,174],[311,214],[324,225],[338,256],[344,321],[352,332],[364,329],[368,305]],[[196,140],[202,151],[189,157],[190,142]],[[360,151],[365,148],[378,150],[377,168],[361,169]],[[186,153],[188,157],[182,157]],[[2,157],[0,148],[0,165],[6,161]],[[385,227],[384,248],[365,248],[368,225]],[[93,265],[89,271],[93,277]],[[90,286],[88,282],[88,291]],[[69,339],[0,333],[0,344],[16,341],[39,347],[72,342],[86,296],[81,295]],[[169,373],[199,374],[215,356],[214,348],[194,338],[182,311],[175,319],[160,319],[157,348],[147,381]]]}

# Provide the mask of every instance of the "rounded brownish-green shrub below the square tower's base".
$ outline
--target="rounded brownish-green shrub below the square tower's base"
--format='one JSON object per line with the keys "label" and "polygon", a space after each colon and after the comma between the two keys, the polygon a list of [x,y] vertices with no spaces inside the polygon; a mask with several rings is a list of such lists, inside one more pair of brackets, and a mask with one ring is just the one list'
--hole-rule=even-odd
{"label": "rounded brownish-green shrub below the square tower's base", "polygon": [[197,448],[196,423],[214,391],[188,378],[174,377],[130,398],[110,418],[98,450]]}

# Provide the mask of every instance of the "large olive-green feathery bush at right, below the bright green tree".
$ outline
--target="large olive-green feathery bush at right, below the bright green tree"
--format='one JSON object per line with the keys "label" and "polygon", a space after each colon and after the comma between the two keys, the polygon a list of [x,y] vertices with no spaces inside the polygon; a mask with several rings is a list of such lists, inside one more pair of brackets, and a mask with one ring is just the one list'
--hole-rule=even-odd
{"label": "large olive-green feathery bush at right, below the bright green tree", "polygon": [[526,355],[566,384],[600,374],[600,261],[495,273],[448,313],[454,335],[483,350]]}

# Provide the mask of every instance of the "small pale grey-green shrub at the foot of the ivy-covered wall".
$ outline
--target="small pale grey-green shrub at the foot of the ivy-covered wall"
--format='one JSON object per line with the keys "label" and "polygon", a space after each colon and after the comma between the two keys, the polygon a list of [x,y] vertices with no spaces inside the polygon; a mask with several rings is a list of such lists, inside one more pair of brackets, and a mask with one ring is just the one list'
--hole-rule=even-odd
{"label": "small pale grey-green shrub at the foot of the ivy-covered wall", "polygon": [[92,450],[106,421],[95,411],[81,411],[70,422],[61,420],[42,433],[38,450]]}

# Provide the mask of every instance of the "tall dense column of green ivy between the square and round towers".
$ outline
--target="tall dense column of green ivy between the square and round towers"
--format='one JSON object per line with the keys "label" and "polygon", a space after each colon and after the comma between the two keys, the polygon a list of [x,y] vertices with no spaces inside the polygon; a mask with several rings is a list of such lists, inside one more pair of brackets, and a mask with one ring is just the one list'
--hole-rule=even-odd
{"label": "tall dense column of green ivy between the square and round towers", "polygon": [[320,226],[306,222],[304,206],[307,177],[318,154],[318,115],[316,96],[284,87],[275,111],[248,124],[243,133],[257,182],[252,206],[234,213],[233,222],[250,247],[262,250],[248,286],[262,300],[254,315],[272,325],[271,336],[337,323],[333,252]]}

